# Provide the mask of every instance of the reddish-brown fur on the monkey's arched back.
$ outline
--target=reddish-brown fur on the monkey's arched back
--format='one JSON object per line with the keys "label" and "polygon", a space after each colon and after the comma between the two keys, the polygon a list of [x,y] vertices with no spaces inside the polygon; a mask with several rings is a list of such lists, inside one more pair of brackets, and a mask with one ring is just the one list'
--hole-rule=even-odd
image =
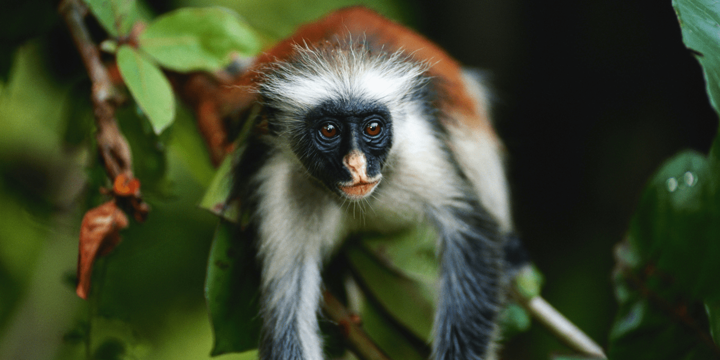
{"label": "reddish-brown fur on the monkey's arched back", "polygon": [[[438,87],[438,107],[446,114],[444,125],[454,126],[458,122],[469,129],[493,134],[485,109],[479,108],[476,99],[469,95],[464,86],[461,68],[456,60],[413,30],[361,6],[340,9],[316,22],[301,26],[292,36],[258,55],[253,68],[289,58],[297,44],[321,45],[325,41],[348,37],[364,40],[374,51],[392,53],[402,49],[416,60],[433,64],[428,73],[433,76]],[[235,83],[237,87],[226,89],[222,95],[225,99],[234,100],[231,102],[233,109],[221,109],[220,112],[244,109],[256,101],[256,94],[248,91],[256,81],[257,73],[251,70]]]}

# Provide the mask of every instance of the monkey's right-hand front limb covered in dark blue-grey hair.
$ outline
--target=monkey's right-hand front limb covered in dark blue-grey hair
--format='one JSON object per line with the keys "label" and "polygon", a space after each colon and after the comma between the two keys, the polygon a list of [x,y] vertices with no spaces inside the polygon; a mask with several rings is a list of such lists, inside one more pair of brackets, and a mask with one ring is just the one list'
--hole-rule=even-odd
{"label": "monkey's right-hand front limb covered in dark blue-grey hair", "polygon": [[440,230],[440,294],[435,360],[495,358],[493,341],[503,297],[498,226],[477,202],[435,216]]}

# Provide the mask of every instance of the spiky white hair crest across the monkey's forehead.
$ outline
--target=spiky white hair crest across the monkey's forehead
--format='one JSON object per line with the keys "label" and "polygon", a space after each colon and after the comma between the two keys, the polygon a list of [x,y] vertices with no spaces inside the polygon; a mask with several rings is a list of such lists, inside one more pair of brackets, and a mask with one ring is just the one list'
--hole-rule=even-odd
{"label": "spiky white hair crest across the monkey's forehead", "polygon": [[263,70],[258,91],[272,107],[286,114],[300,114],[323,102],[377,102],[395,107],[413,96],[427,82],[430,67],[402,50],[372,53],[349,42],[310,47],[295,45],[288,61]]}

